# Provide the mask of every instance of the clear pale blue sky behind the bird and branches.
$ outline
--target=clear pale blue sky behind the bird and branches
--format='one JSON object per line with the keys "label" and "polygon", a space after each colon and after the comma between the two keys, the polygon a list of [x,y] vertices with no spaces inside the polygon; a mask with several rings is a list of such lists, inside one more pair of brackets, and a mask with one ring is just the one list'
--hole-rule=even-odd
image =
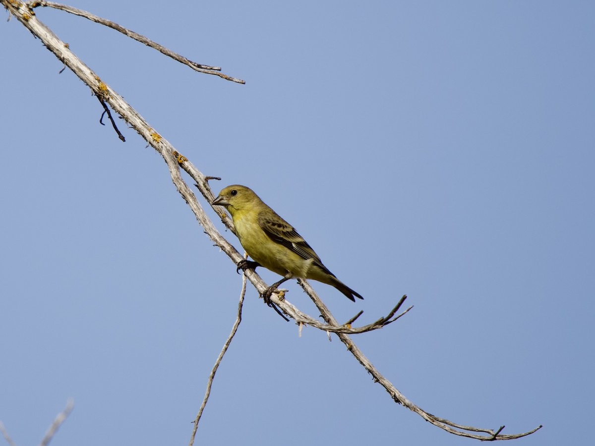
{"label": "clear pale blue sky behind the bird and branches", "polygon": [[[314,282],[338,319],[408,294],[405,318],[355,337],[406,397],[505,433],[543,423],[515,444],[587,444],[595,3],[71,4],[246,80],[37,9],[215,191],[252,187],[365,296]],[[145,141],[100,125],[17,21],[0,42],[0,419],[36,444],[73,397],[54,444],[187,444],[241,278]],[[337,339],[299,338],[251,285],[196,441],[474,442],[394,404]]]}

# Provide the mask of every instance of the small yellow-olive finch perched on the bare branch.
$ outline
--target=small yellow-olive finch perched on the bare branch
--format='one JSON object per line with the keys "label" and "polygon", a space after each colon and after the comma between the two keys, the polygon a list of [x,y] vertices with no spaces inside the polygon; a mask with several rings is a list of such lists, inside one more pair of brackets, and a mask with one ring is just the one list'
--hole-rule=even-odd
{"label": "small yellow-olive finch perched on the bare branch", "polygon": [[314,279],[332,285],[354,302],[353,296],[364,299],[328,271],[295,228],[248,187],[238,184],[227,186],[212,204],[226,207],[236,227],[237,238],[248,255],[255,260],[243,260],[238,263],[238,269],[264,266],[283,276],[283,279],[262,293],[265,301],[270,300],[271,294],[280,284],[291,278]]}

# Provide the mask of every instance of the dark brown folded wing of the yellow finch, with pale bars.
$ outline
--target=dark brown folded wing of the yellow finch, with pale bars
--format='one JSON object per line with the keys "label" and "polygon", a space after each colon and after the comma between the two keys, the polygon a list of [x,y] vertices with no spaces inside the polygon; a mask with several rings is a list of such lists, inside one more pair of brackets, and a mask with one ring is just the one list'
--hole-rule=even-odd
{"label": "dark brown folded wing of the yellow finch, with pale bars", "polygon": [[261,212],[258,215],[258,224],[271,240],[295,252],[302,259],[313,259],[314,262],[312,263],[314,265],[334,276],[333,273],[328,271],[326,266],[322,265],[320,257],[318,257],[317,253],[314,252],[314,249],[312,249],[306,240],[297,233],[295,228],[278,216],[272,209],[268,212]]}

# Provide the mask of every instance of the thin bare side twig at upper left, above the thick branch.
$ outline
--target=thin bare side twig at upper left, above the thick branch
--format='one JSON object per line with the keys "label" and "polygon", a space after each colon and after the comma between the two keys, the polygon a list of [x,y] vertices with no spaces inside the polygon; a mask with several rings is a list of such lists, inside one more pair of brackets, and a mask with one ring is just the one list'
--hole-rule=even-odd
{"label": "thin bare side twig at upper left, above the thick branch", "polygon": [[172,59],[174,59],[178,62],[181,62],[184,65],[188,65],[190,68],[192,68],[193,70],[199,71],[200,73],[214,74],[215,76],[219,76],[225,80],[230,80],[232,82],[236,82],[239,84],[246,83],[242,79],[238,79],[235,77],[227,76],[227,74],[220,73],[219,72],[219,71],[221,71],[220,67],[211,67],[210,65],[202,65],[202,64],[193,62],[189,59],[186,59],[184,56],[174,53],[173,51],[171,51],[168,48],[165,48],[165,46],[159,45],[159,43],[153,42],[153,40],[151,40],[151,39],[147,39],[142,34],[135,33],[134,31],[126,29],[123,26],[120,26],[111,20],[107,20],[107,18],[99,17],[98,15],[91,14],[90,12],[79,10],[78,8],[73,8],[71,6],[62,5],[60,3],[55,3],[55,2],[32,1],[32,2],[27,2],[27,5],[30,8],[36,8],[36,7],[42,6],[42,7],[55,8],[57,10],[70,12],[70,14],[74,14],[74,15],[80,15],[80,17],[88,18],[89,20],[94,21],[95,23],[99,23],[104,26],[115,29],[115,30],[121,32],[122,34],[125,34],[128,37],[131,37],[131,39],[137,40],[140,43],[144,43],[146,46],[150,46],[151,48],[154,48],[157,51],[162,52],[166,56],[171,57]]}

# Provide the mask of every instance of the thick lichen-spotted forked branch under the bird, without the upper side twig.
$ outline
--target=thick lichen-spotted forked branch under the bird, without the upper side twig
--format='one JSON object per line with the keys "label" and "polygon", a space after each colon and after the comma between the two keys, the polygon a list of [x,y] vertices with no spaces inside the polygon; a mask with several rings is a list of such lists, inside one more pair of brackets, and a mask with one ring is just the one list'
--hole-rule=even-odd
{"label": "thick lichen-spotted forked branch under the bird, without the upper side twig", "polygon": [[[31,5],[36,6],[39,3],[40,2],[32,2]],[[167,164],[176,189],[179,191],[183,199],[186,200],[190,206],[190,209],[192,209],[194,212],[196,219],[204,228],[205,233],[209,235],[211,240],[213,240],[214,243],[220,247],[221,250],[223,250],[237,265],[237,262],[242,259],[242,256],[240,256],[237,250],[231,246],[231,244],[217,231],[211,220],[206,216],[202,206],[196,199],[195,194],[192,193],[189,186],[187,186],[187,184],[181,178],[179,165],[181,165],[181,167],[183,167],[187,172],[192,172],[190,175],[196,181],[196,184],[202,195],[210,204],[212,200],[214,200],[215,196],[208,186],[208,177],[205,177],[205,175],[198,171],[198,169],[196,169],[186,157],[180,155],[179,152],[176,152],[174,147],[171,146],[171,144],[160,134],[158,134],[126,101],[124,101],[123,98],[121,98],[120,95],[118,95],[118,93],[111,89],[111,87],[109,87],[107,84],[102,82],[101,79],[96,76],[89,67],[84,65],[83,62],[77,58],[73,52],[70,51],[64,42],[58,39],[58,37],[55,36],[55,34],[49,30],[48,27],[37,20],[35,13],[29,4],[23,4],[14,0],[0,0],[0,4],[4,5],[4,7],[11,12],[11,14],[17,17],[17,20],[19,20],[27,29],[30,30],[30,32],[42,40],[43,44],[50,51],[52,51],[58,57],[58,59],[64,62],[64,64],[70,68],[73,73],[75,73],[84,83],[86,83],[94,93],[98,94],[101,91],[101,97],[105,100],[105,102],[109,103],[115,112],[120,114],[120,116],[126,120],[126,122],[130,124],[130,126],[134,128],[134,130],[136,130],[137,133],[139,133],[140,136],[142,136],[149,143],[149,145],[154,147],[154,149],[157,150],[159,154],[161,154]],[[231,224],[231,220],[226,215],[226,213],[224,213],[222,209],[214,209],[214,211],[220,216],[221,220],[227,225],[227,227],[233,231],[233,224]],[[264,283],[264,281],[262,281],[258,274],[256,274],[253,270],[246,270],[245,275],[248,277],[250,282],[255,285],[259,292],[262,292],[265,290],[265,288],[267,288],[267,285]],[[500,434],[503,426],[496,431],[493,431],[492,429],[475,428],[473,426],[459,425],[458,423],[454,423],[449,420],[434,416],[431,413],[425,412],[420,407],[416,406],[407,398],[405,398],[405,396],[401,394],[390,381],[384,378],[384,376],[374,368],[374,366],[364,356],[361,350],[359,350],[359,348],[353,344],[349,338],[349,335],[347,335],[347,331],[352,328],[347,328],[348,324],[343,324],[345,329],[341,328],[342,325],[339,325],[336,319],[334,319],[333,315],[330,313],[330,311],[328,311],[327,307],[324,305],[324,303],[322,303],[314,290],[312,290],[308,282],[301,281],[300,283],[302,284],[302,287],[306,293],[308,293],[308,295],[314,301],[323,318],[325,319],[326,324],[323,324],[322,327],[315,325],[312,322],[315,321],[314,318],[310,318],[309,316],[306,318],[307,315],[305,315],[305,313],[297,310],[296,307],[287,302],[287,300],[280,299],[277,294],[273,294],[273,296],[271,296],[271,300],[273,300],[274,303],[283,310],[283,312],[286,312],[288,316],[294,318],[299,326],[302,326],[304,323],[308,323],[311,326],[317,326],[317,328],[324,329],[325,331],[335,332],[339,339],[347,346],[347,349],[350,351],[350,353],[352,353],[358,362],[361,363],[361,365],[364,366],[364,368],[368,370],[369,373],[371,373],[371,375],[374,377],[374,381],[382,385],[386,391],[389,392],[390,396],[396,403],[400,403],[403,404],[403,406],[408,407],[408,409],[419,414],[419,416],[432,423],[434,426],[438,426],[439,428],[444,429],[444,431],[450,432],[451,434],[475,438],[482,441],[520,438],[525,435],[533,434],[533,432],[541,428],[541,426],[538,426],[537,428],[522,434],[504,435]],[[393,322],[395,319],[397,319],[400,315],[397,316],[397,318],[392,318],[394,313],[398,311],[400,303],[394,307],[394,309],[389,313],[389,315],[386,316],[386,318],[379,319],[378,321],[382,320],[384,321],[384,325],[387,325],[387,323]],[[403,312],[403,314],[405,312]],[[351,318],[350,321],[355,321],[355,319],[356,317]],[[382,323],[380,325],[382,325]],[[482,432],[487,435],[472,434],[471,432]]]}

